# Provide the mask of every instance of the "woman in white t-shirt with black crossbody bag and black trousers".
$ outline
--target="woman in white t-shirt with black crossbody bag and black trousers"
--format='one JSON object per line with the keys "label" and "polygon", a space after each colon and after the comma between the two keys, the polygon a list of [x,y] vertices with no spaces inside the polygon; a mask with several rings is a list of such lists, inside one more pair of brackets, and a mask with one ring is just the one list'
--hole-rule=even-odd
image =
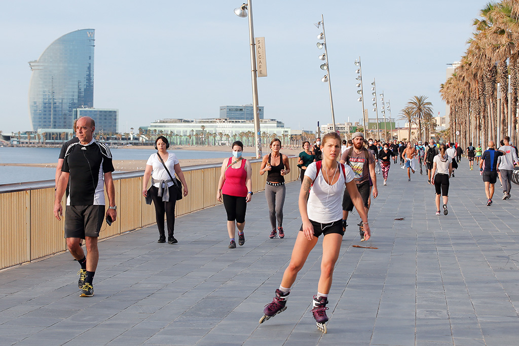
{"label": "woman in white t-shirt with black crossbody bag and black trousers", "polygon": [[[173,236],[175,229],[175,203],[176,203],[176,188],[173,186],[176,182],[174,174],[179,177],[184,186],[184,196],[187,196],[187,184],[184,178],[184,173],[180,168],[179,159],[173,153],[168,153],[169,142],[165,136],[158,136],[155,140],[155,149],[157,153],[149,156],[146,162],[146,170],[142,179],[142,195],[148,196],[148,181],[152,178],[152,186],[149,188],[153,204],[155,205],[155,219],[159,229],[159,240],[157,243],[166,242],[166,233],[164,230],[164,214],[168,222],[168,243],[175,244],[178,241]],[[164,164],[162,164],[162,161]],[[164,168],[168,168],[168,171]],[[175,182],[171,180],[171,176]]]}

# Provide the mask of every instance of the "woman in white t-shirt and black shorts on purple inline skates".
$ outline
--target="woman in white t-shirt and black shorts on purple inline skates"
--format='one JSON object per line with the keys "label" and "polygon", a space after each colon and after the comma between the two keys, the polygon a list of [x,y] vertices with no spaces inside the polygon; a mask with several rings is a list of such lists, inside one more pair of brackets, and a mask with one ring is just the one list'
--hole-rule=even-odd
{"label": "woman in white t-shirt and black shorts on purple inline skates", "polygon": [[367,224],[364,202],[354,181],[355,174],[348,165],[345,166],[337,161],[340,156],[340,136],[335,132],[326,134],[321,143],[321,150],[322,161],[312,162],[308,165],[299,192],[299,212],[303,225],[292,250],[290,265],[283,274],[281,286],[276,289],[274,300],[265,307],[260,323],[286,309],[286,299],[290,294],[290,287],[296,280],[297,273],[303,268],[308,254],[316,246],[318,237],[324,234],[321,277],[317,295],[313,296],[312,314],[317,321],[317,327],[326,333],[327,297],[344,235],[342,202],[345,185],[362,218],[365,240],[370,238],[370,227]]}

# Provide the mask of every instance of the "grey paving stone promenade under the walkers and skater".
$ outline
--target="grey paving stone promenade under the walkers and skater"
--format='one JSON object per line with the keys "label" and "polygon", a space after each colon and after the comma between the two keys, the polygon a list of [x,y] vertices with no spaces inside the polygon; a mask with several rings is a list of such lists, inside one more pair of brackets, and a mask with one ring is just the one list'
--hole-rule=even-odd
{"label": "grey paving stone promenade under the walkers and skater", "polygon": [[[285,239],[268,239],[263,193],[248,206],[246,242],[227,248],[223,205],[176,220],[178,244],[156,226],[100,243],[92,298],[79,298],[77,262],[61,254],[0,272],[0,344],[9,345],[516,345],[519,187],[494,204],[467,160],[451,179],[449,214],[434,192],[392,165],[361,244],[358,215],[334,273],[321,334],[310,313],[320,245],[299,273],[288,309],[258,325],[288,265],[299,183],[287,186]],[[49,210],[51,201],[49,201]],[[120,215],[124,217],[124,215]],[[405,217],[404,220],[395,218]]]}

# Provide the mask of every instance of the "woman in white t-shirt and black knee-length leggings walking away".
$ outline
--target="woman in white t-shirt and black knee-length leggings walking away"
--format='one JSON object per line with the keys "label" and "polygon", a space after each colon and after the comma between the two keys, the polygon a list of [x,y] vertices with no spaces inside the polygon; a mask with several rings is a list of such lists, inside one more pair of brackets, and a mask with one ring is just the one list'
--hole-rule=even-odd
{"label": "woman in white t-shirt and black knee-length leggings walking away", "polygon": [[453,172],[453,159],[447,155],[445,144],[440,145],[440,154],[432,160],[431,184],[436,189],[436,215],[440,215],[440,195],[443,195],[443,215],[448,214],[449,178]]}

